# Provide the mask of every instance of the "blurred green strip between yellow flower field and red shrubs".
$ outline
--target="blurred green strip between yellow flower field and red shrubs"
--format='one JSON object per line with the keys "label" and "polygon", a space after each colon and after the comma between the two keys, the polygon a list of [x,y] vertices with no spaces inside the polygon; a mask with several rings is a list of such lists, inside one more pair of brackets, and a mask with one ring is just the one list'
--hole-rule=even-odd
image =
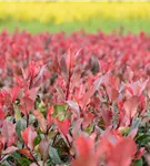
{"label": "blurred green strip between yellow flower field and red shrubs", "polygon": [[113,30],[119,30],[120,27],[124,28],[124,33],[131,31],[133,33],[138,33],[140,31],[144,31],[150,33],[150,20],[141,20],[136,19],[132,21],[126,20],[99,20],[93,19],[88,22],[66,22],[60,24],[49,23],[43,24],[40,22],[17,22],[17,21],[2,21],[0,22],[0,31],[3,29],[8,29],[10,32],[13,32],[16,28],[19,30],[28,30],[31,33],[38,33],[43,31],[49,32],[60,32],[66,31],[70,33],[72,31],[77,31],[80,29],[84,29],[87,32],[97,32],[98,30],[102,30],[103,32],[111,32]]}

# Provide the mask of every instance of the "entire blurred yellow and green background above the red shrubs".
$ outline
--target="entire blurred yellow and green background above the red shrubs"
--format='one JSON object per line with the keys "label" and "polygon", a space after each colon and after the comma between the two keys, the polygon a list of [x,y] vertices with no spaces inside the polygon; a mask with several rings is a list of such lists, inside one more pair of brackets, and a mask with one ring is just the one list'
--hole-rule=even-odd
{"label": "entire blurred yellow and green background above the red shrubs", "polygon": [[123,30],[150,32],[150,2],[148,0],[1,0],[0,31],[28,30],[70,33]]}

